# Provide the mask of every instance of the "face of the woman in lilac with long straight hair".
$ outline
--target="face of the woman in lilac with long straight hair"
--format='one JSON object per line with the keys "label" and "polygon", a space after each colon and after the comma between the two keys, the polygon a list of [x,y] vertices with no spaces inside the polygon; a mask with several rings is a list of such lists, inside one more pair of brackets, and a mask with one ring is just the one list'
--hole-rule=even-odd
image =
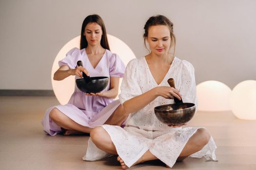
{"label": "face of the woman in lilac with long straight hair", "polygon": [[88,42],[88,45],[95,46],[100,44],[102,29],[100,25],[95,22],[90,22],[84,29],[84,35]]}

